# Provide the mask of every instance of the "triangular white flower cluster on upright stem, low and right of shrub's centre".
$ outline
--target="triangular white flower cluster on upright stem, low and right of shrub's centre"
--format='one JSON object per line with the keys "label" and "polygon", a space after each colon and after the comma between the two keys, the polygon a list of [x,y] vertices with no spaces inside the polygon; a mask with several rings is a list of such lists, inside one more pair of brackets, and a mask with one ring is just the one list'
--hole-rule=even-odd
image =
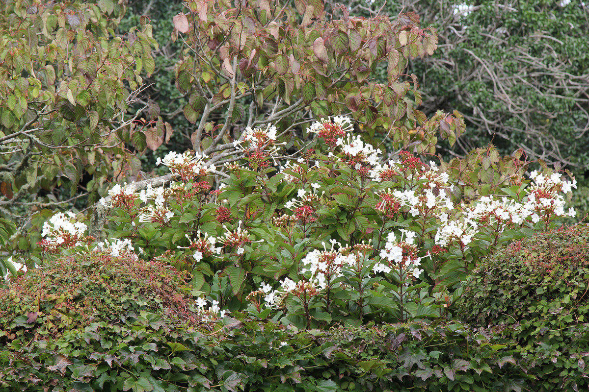
{"label": "triangular white flower cluster on upright stem, low and right of shrub's centre", "polygon": [[[421,266],[421,259],[428,256],[416,256],[417,249],[413,245],[413,241],[415,240],[414,232],[401,229],[401,233],[400,242],[397,242],[395,233],[391,232],[388,234],[385,247],[380,250],[380,262],[376,263],[372,270],[375,273],[390,273],[393,269],[402,267],[403,272],[418,278],[423,273],[423,269],[419,268]],[[386,260],[387,263],[382,263],[383,260]]]}

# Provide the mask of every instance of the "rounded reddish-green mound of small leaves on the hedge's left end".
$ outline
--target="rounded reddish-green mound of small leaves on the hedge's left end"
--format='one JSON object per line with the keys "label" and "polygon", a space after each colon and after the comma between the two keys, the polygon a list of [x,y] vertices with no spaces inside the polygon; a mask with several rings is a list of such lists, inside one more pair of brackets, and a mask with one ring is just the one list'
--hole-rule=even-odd
{"label": "rounded reddish-green mound of small leaves on the hedge's left end", "polygon": [[57,337],[97,321],[116,324],[141,311],[194,324],[201,317],[191,310],[188,292],[187,274],[163,262],[131,254],[77,254],[31,269],[0,289],[5,299],[0,336],[35,331]]}

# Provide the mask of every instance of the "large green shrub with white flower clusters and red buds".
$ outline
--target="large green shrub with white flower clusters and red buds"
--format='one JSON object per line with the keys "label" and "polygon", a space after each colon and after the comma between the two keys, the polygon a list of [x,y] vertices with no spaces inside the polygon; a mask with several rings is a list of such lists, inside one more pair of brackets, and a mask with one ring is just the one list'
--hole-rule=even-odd
{"label": "large green shrub with white flower clusters and red buds", "polygon": [[560,173],[532,172],[528,185],[522,165],[494,195],[467,198],[451,167],[385,159],[348,118],[309,133],[312,148],[286,160],[276,128],[247,129],[233,143],[244,165],[224,172],[169,153],[158,163],[170,186],[117,185],[102,200],[111,223],[98,248],[189,271],[203,312],[309,328],[444,316],[479,257],[574,216],[563,195],[576,185]]}

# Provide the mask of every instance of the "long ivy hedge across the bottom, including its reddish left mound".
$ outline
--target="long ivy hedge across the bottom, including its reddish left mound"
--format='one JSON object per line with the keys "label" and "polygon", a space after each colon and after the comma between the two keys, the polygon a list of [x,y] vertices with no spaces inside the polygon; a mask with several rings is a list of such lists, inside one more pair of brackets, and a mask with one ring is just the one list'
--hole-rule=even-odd
{"label": "long ivy hedge across the bottom, including its reddish left mound", "polygon": [[2,392],[540,391],[586,385],[580,364],[589,353],[575,357],[578,366],[566,377],[545,376],[547,363],[571,363],[551,351],[556,338],[530,334],[544,350],[534,351],[532,343],[523,346],[515,332],[497,326],[438,320],[297,330],[240,314],[208,323],[194,309],[184,274],[133,257],[67,257],[19,277],[0,297]]}

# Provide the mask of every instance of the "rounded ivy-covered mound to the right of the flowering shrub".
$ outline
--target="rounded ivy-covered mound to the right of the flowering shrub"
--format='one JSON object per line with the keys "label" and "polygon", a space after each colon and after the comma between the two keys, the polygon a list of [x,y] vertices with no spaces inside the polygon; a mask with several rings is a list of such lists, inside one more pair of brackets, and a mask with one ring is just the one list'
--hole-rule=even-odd
{"label": "rounded ivy-covered mound to the right of the flowering shrub", "polygon": [[462,320],[514,339],[524,361],[543,367],[545,390],[551,382],[587,385],[588,240],[582,224],[536,234],[494,253],[466,279]]}

